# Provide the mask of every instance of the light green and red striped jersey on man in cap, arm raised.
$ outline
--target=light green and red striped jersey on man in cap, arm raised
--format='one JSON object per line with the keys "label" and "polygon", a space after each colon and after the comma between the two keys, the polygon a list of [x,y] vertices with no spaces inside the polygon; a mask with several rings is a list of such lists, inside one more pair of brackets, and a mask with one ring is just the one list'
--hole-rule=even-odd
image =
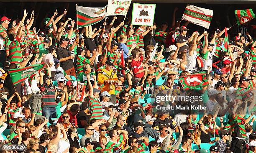
{"label": "light green and red striped jersey on man in cap, arm raised", "polygon": [[88,107],[89,107],[89,110],[91,112],[90,114],[90,120],[92,119],[103,119],[103,116],[102,116],[102,106],[100,104],[100,99],[97,99],[97,98],[93,98],[93,97],[90,97],[89,96],[89,99],[88,99]]}

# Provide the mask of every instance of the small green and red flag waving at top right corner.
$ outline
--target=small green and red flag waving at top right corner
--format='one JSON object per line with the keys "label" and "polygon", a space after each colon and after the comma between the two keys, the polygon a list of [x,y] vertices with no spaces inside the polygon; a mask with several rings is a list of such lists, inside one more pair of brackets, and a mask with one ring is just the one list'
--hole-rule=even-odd
{"label": "small green and red flag waving at top right corner", "polygon": [[235,15],[238,26],[255,18],[255,14],[251,8],[246,10],[235,10]]}

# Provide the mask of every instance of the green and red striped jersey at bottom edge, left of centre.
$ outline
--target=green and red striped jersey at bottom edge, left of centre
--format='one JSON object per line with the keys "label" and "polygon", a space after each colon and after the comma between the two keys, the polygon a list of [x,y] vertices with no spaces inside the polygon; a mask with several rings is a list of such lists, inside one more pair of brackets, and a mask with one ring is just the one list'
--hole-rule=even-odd
{"label": "green and red striped jersey at bottom edge, left of centre", "polygon": [[105,153],[121,153],[122,151],[122,141],[125,139],[125,135],[120,135],[119,140],[117,142],[113,142],[110,140],[106,147],[105,147]]}

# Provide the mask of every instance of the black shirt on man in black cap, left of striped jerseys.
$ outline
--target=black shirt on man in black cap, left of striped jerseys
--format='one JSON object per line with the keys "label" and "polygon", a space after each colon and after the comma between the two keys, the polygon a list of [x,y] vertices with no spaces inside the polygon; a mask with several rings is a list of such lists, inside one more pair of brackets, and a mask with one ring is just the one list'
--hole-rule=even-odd
{"label": "black shirt on man in black cap, left of striped jerseys", "polygon": [[[66,58],[66,57],[71,56],[69,49],[62,48],[61,46],[59,46],[59,48],[57,49],[56,54],[57,54],[59,60],[61,58]],[[60,64],[61,64],[62,69],[64,69],[64,71],[74,67],[74,62],[72,59],[68,59],[67,61],[61,61]]]}

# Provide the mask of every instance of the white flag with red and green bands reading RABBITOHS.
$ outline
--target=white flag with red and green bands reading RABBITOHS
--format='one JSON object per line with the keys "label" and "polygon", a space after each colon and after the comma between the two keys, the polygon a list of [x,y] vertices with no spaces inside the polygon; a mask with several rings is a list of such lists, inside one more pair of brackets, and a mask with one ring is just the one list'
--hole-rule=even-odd
{"label": "white flag with red and green bands reading RABBITOHS", "polygon": [[187,4],[182,20],[194,23],[196,25],[209,29],[212,20],[213,10],[199,8],[194,5]]}

